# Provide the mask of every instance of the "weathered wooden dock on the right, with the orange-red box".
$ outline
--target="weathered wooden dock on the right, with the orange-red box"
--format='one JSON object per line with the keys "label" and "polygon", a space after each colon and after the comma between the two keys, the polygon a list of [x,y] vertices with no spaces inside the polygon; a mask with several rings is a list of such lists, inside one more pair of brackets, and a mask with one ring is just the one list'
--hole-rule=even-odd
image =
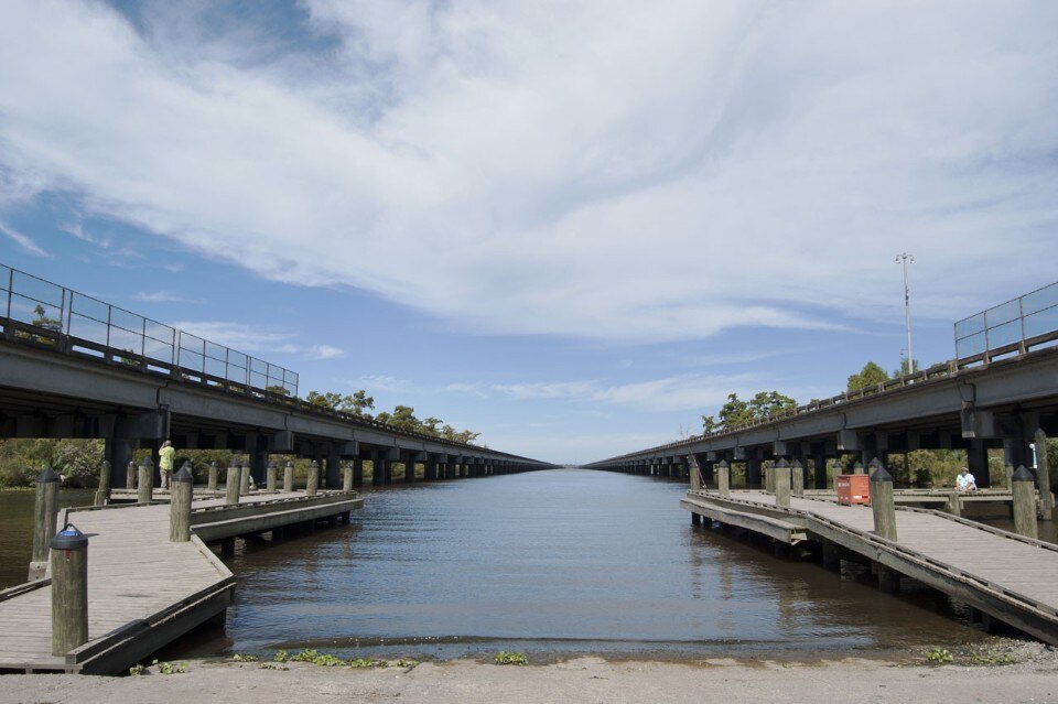
{"label": "weathered wooden dock on the right, with the orange-red box", "polygon": [[[767,535],[777,545],[821,546],[824,565],[852,559],[871,564],[879,585],[911,577],[995,619],[1058,645],[1058,545],[975,523],[932,509],[896,508],[897,540],[874,533],[868,506],[798,498],[776,506],[764,491],[688,491],[682,507],[706,523]],[[698,518],[695,518],[698,520]],[[894,578],[896,577],[896,578]]]}

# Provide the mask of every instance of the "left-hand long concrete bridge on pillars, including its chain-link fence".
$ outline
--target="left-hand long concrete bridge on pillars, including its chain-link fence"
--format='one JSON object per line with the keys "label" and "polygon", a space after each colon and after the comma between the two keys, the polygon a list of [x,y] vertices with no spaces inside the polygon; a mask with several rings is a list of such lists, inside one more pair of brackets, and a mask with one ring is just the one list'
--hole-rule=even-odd
{"label": "left-hand long concrete bridge on pillars, including its chain-link fence", "polygon": [[246,453],[258,484],[270,454],[311,457],[323,488],[374,484],[403,463],[425,479],[552,465],[406,432],[299,398],[298,375],[31,274],[0,266],[0,437],[106,441],[111,481],[123,486],[137,447]]}

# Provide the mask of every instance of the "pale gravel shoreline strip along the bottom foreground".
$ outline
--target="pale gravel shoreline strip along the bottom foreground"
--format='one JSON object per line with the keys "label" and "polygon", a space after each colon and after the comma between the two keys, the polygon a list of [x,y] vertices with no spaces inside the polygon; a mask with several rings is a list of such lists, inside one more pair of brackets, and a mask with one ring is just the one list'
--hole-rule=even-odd
{"label": "pale gravel shoreline strip along the bottom foreground", "polygon": [[[190,660],[187,672],[144,676],[0,676],[0,704],[168,702],[1055,702],[1058,650],[1033,641],[990,639],[893,658],[708,658],[681,662],[577,657],[548,664],[479,660],[386,668],[306,662]],[[1003,664],[1000,664],[1003,663]]]}

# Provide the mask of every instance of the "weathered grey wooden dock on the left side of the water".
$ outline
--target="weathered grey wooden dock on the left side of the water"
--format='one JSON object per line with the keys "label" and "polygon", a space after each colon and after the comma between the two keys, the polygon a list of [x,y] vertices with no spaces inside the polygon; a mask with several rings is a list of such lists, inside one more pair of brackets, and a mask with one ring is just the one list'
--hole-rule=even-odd
{"label": "weathered grey wooden dock on the left side of the water", "polygon": [[235,576],[208,543],[327,519],[348,522],[356,492],[256,494],[237,506],[196,500],[190,542],[170,542],[168,502],[66,509],[88,535],[88,642],[52,654],[51,581],[0,592],[0,672],[116,674],[216,618],[235,597]]}

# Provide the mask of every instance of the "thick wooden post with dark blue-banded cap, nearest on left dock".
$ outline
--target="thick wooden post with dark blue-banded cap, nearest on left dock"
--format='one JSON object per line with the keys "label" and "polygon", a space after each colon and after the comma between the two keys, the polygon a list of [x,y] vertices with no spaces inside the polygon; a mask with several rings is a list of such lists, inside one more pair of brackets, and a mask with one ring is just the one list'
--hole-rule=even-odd
{"label": "thick wooden post with dark blue-banded cap, nearest on left dock", "polygon": [[52,539],[52,654],[88,642],[88,539],[66,523]]}

